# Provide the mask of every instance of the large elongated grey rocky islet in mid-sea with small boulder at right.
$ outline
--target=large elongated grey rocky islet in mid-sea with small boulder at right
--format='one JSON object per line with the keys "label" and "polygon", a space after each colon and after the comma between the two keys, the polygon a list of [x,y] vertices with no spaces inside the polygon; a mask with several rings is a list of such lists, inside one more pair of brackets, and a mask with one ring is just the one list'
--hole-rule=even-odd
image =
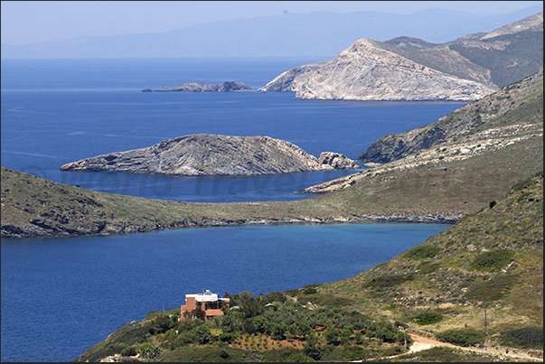
{"label": "large elongated grey rocky islet in mid-sea with small boulder at right", "polygon": [[[350,164],[336,154],[335,165]],[[352,161],[353,162],[353,161]],[[99,155],[61,166],[61,171],[110,171],[174,175],[257,175],[321,171],[315,156],[268,136],[185,135],[127,152]]]}

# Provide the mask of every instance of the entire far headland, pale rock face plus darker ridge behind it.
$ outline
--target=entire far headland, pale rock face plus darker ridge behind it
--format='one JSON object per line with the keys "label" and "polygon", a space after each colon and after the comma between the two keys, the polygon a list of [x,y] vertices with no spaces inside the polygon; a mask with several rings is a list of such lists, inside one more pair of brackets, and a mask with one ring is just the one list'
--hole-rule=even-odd
{"label": "entire far headland, pale rock face plus darker ridge behind it", "polygon": [[259,90],[300,99],[475,101],[540,70],[542,24],[540,13],[442,44],[363,38],[334,60],[287,70]]}

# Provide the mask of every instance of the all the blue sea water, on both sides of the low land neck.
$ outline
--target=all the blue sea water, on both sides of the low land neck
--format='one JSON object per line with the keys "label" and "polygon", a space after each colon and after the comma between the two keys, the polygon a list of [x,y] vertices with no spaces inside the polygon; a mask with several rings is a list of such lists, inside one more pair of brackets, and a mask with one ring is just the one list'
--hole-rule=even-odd
{"label": "all the blue sea water, on both sides of the low land neck", "polygon": [[[331,57],[333,58],[333,57]],[[331,59],[330,58],[330,59]],[[94,191],[151,199],[294,201],[305,187],[356,173],[249,177],[68,173],[83,158],[197,133],[268,135],[316,157],[352,159],[375,140],[435,122],[453,102],[298,100],[259,92],[324,58],[2,60],[2,166]],[[142,92],[184,82],[256,91]],[[332,224],[178,229],[123,236],[2,239],[1,360],[70,361],[122,325],[210,289],[254,295],[362,273],[447,229]]]}

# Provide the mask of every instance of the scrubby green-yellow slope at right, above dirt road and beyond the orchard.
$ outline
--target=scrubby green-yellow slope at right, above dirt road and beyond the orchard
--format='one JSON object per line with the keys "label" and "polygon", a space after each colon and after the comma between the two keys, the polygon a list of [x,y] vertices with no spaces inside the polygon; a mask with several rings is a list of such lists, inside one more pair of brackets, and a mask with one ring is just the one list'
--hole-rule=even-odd
{"label": "scrubby green-yellow slope at right, above dirt road and beyond the orchard", "polygon": [[[476,257],[498,251],[506,252],[506,260],[475,266]],[[543,173],[421,246],[318,290],[352,299],[347,308],[428,331],[483,330],[484,303],[492,332],[542,325]],[[423,311],[443,313],[445,319],[427,326],[409,321]]]}

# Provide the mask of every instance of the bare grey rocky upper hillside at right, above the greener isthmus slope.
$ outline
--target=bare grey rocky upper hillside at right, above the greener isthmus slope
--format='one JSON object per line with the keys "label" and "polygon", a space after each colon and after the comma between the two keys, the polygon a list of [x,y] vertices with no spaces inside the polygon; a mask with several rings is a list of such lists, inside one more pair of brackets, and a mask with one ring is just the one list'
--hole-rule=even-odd
{"label": "bare grey rocky upper hillside at right, above the greener isthmus slope", "polygon": [[[455,165],[466,168],[465,165],[483,163],[484,166],[484,159],[496,153],[505,153],[502,149],[509,149],[519,143],[542,143],[542,105],[541,70],[493,95],[460,107],[433,124],[400,135],[381,137],[367,152],[360,155],[359,160],[385,164],[309,187],[303,192],[337,191],[346,186],[357,186],[375,175],[381,174],[385,178],[389,173],[396,174],[396,171],[409,169],[415,173],[416,170],[429,168],[430,165],[445,171],[448,169],[451,173],[456,169]],[[534,152],[535,154],[527,156],[506,156],[504,163],[494,162],[497,163],[494,168],[500,173],[508,164],[512,165],[508,168],[518,168],[517,164],[523,168],[527,163],[533,163],[533,168],[538,167],[538,163],[543,160],[543,152]],[[537,172],[535,169],[531,171]]]}

